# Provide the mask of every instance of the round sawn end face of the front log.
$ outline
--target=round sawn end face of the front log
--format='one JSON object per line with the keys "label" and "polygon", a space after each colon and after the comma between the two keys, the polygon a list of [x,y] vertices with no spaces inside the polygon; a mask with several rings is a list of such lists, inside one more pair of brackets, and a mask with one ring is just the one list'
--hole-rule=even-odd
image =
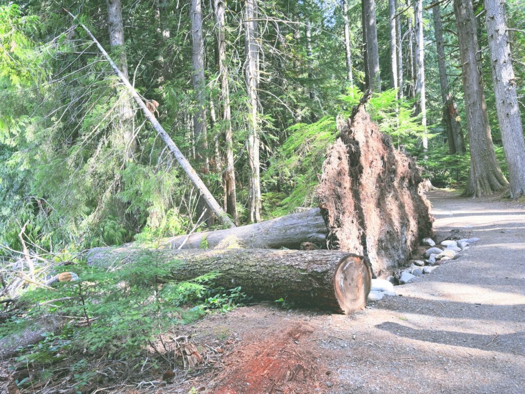
{"label": "round sawn end face of the front log", "polygon": [[333,276],[333,288],[345,315],[366,307],[372,273],[363,256],[350,254],[341,259]]}

